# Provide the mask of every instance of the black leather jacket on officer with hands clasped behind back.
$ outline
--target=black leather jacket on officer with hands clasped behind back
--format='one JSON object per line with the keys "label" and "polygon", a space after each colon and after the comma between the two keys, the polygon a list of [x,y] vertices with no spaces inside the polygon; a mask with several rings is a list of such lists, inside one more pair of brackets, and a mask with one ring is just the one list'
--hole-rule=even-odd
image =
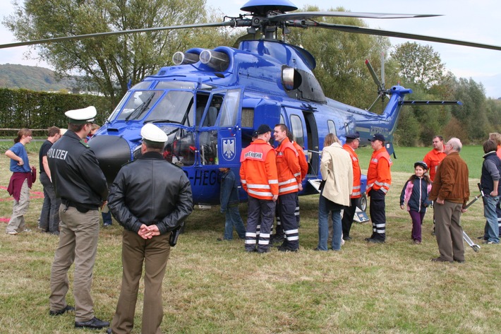
{"label": "black leather jacket on officer with hands clasped behind back", "polygon": [[108,207],[126,229],[157,225],[160,234],[179,227],[193,211],[191,184],[183,169],[156,152],[123,165],[109,189]]}

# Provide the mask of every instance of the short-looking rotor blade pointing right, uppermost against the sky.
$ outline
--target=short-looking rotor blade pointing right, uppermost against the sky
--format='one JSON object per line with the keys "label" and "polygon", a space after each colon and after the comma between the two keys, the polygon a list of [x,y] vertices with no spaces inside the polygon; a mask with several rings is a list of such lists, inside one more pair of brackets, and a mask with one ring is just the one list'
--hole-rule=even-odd
{"label": "short-looking rotor blade pointing right, uppermost against the sky", "polygon": [[344,18],[430,18],[442,16],[435,14],[392,14],[392,13],[356,13],[351,11],[303,11],[294,13],[268,16],[269,20],[306,20],[322,16],[334,16]]}

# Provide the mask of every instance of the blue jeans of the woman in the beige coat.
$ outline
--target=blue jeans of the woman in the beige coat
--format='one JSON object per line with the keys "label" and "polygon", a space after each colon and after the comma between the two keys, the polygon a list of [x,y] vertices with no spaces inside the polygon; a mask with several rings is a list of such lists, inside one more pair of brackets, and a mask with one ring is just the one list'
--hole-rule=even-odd
{"label": "blue jeans of the woman in the beige coat", "polygon": [[327,199],[320,195],[318,201],[318,249],[327,251],[327,237],[329,235],[329,213],[332,213],[332,250],[341,250],[341,210],[327,210]]}

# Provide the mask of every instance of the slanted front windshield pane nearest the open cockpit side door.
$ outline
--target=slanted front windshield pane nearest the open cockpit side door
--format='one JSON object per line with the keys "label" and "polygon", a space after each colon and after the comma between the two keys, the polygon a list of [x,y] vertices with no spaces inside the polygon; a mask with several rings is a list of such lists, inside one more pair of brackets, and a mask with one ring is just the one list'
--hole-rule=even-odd
{"label": "slanted front windshield pane nearest the open cockpit side door", "polygon": [[159,100],[145,121],[193,126],[193,93],[171,90]]}

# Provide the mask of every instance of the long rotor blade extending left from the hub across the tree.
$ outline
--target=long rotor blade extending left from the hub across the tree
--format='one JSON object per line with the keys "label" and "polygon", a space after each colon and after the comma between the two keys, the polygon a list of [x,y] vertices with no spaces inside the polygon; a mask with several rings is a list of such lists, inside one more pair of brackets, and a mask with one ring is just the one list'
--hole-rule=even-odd
{"label": "long rotor blade extending left from the hub across the tree", "polygon": [[[239,20],[240,21],[240,20]],[[133,29],[133,30],[119,30],[119,31],[108,31],[108,32],[96,32],[93,34],[86,35],[74,35],[74,36],[64,36],[64,37],[54,37],[54,38],[46,38],[44,40],[30,40],[26,42],[15,42],[9,44],[0,44],[0,49],[6,49],[8,47],[23,47],[25,45],[33,45],[33,44],[46,44],[52,42],[63,42],[68,40],[83,40],[84,38],[91,37],[103,37],[103,36],[111,36],[111,35],[125,35],[131,34],[134,32],[148,32],[148,31],[158,31],[158,30],[176,30],[176,29],[186,29],[186,28],[205,28],[205,27],[224,27],[224,26],[245,26],[250,25],[250,20],[248,20],[248,24],[245,24],[247,20],[241,20],[243,22],[236,22],[236,20],[229,20],[225,22],[215,22],[215,23],[198,23],[191,25],[171,25],[168,27],[157,27],[157,28],[141,28],[141,29]]]}

